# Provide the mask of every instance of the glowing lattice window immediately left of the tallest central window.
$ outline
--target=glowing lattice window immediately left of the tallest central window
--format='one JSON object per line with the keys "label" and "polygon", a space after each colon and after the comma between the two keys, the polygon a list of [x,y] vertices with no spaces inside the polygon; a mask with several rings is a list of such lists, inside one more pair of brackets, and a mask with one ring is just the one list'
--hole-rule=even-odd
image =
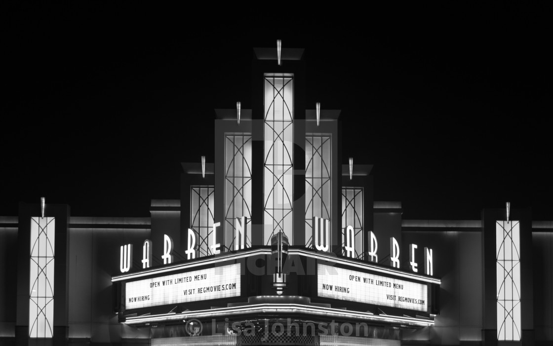
{"label": "glowing lattice window immediately left of the tallest central window", "polygon": [[247,218],[246,247],[252,246],[252,136],[225,136],[225,247],[234,250],[236,218]]}

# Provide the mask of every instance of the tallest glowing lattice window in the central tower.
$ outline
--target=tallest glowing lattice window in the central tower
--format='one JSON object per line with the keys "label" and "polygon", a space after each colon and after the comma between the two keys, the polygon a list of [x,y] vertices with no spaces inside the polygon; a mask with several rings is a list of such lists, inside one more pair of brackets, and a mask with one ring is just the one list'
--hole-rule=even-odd
{"label": "tallest glowing lattice window in the central tower", "polygon": [[263,241],[282,230],[293,245],[293,79],[265,76],[264,90]]}

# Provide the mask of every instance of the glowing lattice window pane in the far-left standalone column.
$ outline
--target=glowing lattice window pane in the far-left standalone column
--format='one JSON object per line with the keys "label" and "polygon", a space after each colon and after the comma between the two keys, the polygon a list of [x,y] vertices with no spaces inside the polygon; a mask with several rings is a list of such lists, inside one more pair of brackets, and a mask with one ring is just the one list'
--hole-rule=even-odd
{"label": "glowing lattice window pane in the far-left standalone column", "polygon": [[29,337],[51,338],[54,329],[55,218],[32,217],[29,274]]}

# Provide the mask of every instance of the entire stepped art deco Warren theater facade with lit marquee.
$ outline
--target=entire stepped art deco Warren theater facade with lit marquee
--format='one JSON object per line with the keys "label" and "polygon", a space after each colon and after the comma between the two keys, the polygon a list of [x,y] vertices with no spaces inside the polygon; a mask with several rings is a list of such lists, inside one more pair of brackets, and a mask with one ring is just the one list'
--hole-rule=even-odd
{"label": "entire stepped art deco Warren theater facade with lit marquee", "polygon": [[553,343],[553,221],[375,201],[340,111],[305,103],[303,53],[254,49],[252,108],[215,109],[214,162],[182,163],[180,200],[150,217],[48,196],[0,217],[0,343]]}

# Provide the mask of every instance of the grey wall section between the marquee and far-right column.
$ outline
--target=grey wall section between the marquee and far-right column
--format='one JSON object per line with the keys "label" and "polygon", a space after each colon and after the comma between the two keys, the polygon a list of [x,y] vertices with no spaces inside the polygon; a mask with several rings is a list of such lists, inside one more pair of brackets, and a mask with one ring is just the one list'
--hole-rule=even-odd
{"label": "grey wall section between the marquee and far-right column", "polygon": [[402,344],[459,345],[482,340],[482,240],[480,232],[403,231],[400,260],[409,270],[409,244],[424,268],[424,247],[433,250],[434,276],[440,277],[440,314],[435,326],[404,331]]}

